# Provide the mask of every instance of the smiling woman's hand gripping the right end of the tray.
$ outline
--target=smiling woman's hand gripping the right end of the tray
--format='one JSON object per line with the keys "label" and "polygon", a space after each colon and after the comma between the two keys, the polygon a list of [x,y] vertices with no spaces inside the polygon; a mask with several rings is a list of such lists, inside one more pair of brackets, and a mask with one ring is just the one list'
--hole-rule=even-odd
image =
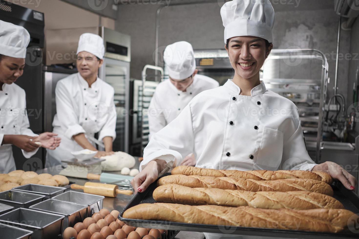
{"label": "smiling woman's hand gripping the right end of the tray", "polygon": [[325,163],[318,164],[314,166],[312,171],[328,173],[333,178],[339,180],[349,190],[354,190],[355,185],[358,184],[358,181],[356,181],[353,175],[348,173],[344,168],[334,162],[327,161]]}

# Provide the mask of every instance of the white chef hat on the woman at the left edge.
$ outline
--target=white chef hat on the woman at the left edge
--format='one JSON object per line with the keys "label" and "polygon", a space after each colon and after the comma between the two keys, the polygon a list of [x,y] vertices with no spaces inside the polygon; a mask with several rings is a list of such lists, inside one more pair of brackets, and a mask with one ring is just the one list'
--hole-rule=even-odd
{"label": "white chef hat on the woman at the left edge", "polygon": [[26,58],[29,42],[30,34],[25,28],[0,20],[0,54]]}

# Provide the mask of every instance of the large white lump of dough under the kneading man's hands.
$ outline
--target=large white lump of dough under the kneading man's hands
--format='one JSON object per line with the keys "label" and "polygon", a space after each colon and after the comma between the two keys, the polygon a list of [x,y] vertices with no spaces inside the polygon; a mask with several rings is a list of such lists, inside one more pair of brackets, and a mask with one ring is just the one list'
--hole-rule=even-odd
{"label": "large white lump of dough under the kneading man's hands", "polygon": [[120,171],[122,168],[132,168],[135,166],[135,158],[125,152],[115,152],[112,155],[101,157],[106,159],[101,162],[103,171]]}

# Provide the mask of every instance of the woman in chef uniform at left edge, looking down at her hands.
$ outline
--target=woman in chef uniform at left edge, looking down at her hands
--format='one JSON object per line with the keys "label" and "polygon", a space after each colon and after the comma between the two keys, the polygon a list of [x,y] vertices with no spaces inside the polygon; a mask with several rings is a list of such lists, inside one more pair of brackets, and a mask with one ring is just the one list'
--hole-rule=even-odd
{"label": "woman in chef uniform at left edge, looking down at her hands", "polygon": [[30,158],[39,145],[54,149],[61,141],[56,134],[37,135],[28,129],[25,91],[14,82],[23,74],[29,42],[25,28],[0,20],[0,173],[16,169],[11,144]]}

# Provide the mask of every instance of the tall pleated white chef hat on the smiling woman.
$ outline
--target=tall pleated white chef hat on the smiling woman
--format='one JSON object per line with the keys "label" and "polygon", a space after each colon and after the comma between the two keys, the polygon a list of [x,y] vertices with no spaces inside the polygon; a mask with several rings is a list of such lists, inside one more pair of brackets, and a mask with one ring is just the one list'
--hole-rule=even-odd
{"label": "tall pleated white chef hat on the smiling woman", "polygon": [[269,0],[233,0],[221,8],[224,43],[231,37],[253,36],[273,42],[274,9]]}

